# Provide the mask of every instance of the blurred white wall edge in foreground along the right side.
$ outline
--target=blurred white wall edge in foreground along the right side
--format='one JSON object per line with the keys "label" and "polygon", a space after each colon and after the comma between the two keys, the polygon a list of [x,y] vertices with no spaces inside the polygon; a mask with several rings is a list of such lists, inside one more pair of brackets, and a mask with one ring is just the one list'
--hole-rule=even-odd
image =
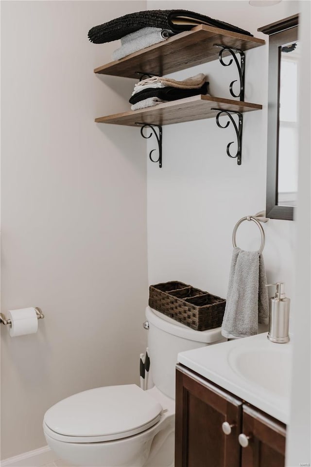
{"label": "blurred white wall edge in foreground along the right side", "polygon": [[311,5],[301,4],[299,36],[302,41],[300,73],[299,192],[297,213],[296,313],[292,363],[291,420],[287,438],[287,466],[311,464]]}

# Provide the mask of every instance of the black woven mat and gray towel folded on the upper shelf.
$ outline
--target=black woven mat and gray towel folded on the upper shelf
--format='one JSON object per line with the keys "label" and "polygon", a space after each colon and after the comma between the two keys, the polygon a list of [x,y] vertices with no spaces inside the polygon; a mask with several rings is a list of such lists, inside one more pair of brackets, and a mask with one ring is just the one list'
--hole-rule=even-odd
{"label": "black woven mat and gray towel folded on the upper shelf", "polygon": [[232,24],[193,11],[147,10],[130,13],[94,26],[88,31],[88,38],[94,44],[121,39],[121,47],[115,50],[112,55],[113,60],[120,60],[138,50],[166,40],[174,34],[189,31],[199,24],[252,36],[248,31]]}

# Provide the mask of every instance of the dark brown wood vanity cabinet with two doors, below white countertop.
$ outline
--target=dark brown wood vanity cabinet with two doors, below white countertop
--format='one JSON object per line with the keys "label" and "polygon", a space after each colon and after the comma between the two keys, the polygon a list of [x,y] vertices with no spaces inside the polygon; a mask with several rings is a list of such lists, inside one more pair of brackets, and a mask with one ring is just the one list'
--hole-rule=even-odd
{"label": "dark brown wood vanity cabinet with two doors, below white countertop", "polygon": [[284,467],[284,459],[285,425],[177,365],[175,467]]}

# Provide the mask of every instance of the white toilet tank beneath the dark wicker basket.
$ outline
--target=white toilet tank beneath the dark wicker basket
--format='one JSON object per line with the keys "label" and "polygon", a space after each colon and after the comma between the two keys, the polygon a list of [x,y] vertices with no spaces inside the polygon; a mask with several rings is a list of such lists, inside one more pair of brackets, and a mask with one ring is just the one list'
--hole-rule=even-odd
{"label": "white toilet tank beneath the dark wicker basket", "polygon": [[146,308],[146,319],[149,323],[148,348],[151,376],[157,389],[174,399],[177,354],[224,342],[226,339],[221,335],[220,327],[195,331],[150,306]]}

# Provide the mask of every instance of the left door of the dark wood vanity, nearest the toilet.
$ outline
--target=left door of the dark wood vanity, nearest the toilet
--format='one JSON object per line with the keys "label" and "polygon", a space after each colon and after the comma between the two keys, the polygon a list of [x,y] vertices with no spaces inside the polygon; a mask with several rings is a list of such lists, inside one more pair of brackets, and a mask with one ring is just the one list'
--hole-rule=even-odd
{"label": "left door of the dark wood vanity, nearest the toilet", "polygon": [[242,401],[177,365],[175,467],[239,467],[241,418]]}

